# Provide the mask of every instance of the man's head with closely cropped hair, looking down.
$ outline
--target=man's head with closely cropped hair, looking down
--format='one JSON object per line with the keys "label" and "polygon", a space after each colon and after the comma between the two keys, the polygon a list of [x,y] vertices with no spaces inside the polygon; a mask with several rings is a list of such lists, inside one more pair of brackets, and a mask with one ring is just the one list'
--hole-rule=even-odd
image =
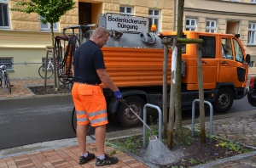
{"label": "man's head with closely cropped hair, looking down", "polygon": [[104,27],[98,27],[92,32],[90,40],[95,42],[99,48],[102,48],[108,41],[110,33]]}

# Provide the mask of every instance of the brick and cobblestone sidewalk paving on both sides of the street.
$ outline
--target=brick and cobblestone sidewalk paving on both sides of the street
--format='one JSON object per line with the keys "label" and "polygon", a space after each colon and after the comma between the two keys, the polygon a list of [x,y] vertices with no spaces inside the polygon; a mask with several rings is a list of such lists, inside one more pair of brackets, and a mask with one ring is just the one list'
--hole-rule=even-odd
{"label": "brick and cobblestone sidewalk paving on both sides of the street", "polygon": [[[256,75],[256,68],[250,68],[250,76]],[[250,77],[249,77],[250,78]],[[51,85],[53,80],[48,80]],[[11,79],[12,93],[0,92],[0,101],[9,98],[32,98],[35,95],[27,88],[29,86],[44,85],[44,79]],[[241,114],[241,113],[240,113]],[[245,144],[248,147],[256,149],[256,110],[242,113],[236,118],[230,114],[229,119],[213,120],[212,132],[219,137],[226,137],[236,143]],[[216,117],[217,118],[217,117]],[[196,122],[195,122],[196,123]],[[198,122],[197,122],[198,123]],[[206,124],[207,132],[209,123]],[[134,128],[120,132],[108,132],[107,138],[117,138],[143,133],[143,128]],[[94,137],[88,137],[88,150],[96,152],[96,143]],[[111,153],[113,147],[105,146],[106,153]],[[126,154],[117,149],[115,156],[119,158],[116,165],[104,167],[155,167],[133,154]],[[96,167],[95,161],[88,164],[79,165],[79,147],[77,138],[61,139],[52,142],[34,143],[21,147],[6,148],[0,151],[0,168],[15,167]],[[256,167],[256,151],[248,154],[239,154],[234,157],[217,160],[206,165],[198,165],[198,167]]]}

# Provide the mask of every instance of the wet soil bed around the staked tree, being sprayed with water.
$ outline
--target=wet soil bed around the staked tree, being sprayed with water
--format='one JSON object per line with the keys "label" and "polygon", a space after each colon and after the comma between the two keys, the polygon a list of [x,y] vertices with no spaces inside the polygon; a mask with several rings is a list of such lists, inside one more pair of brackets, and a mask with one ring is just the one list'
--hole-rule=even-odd
{"label": "wet soil bed around the staked tree, being sprayed with water", "polygon": [[[175,140],[175,134],[173,141],[174,143],[172,149],[167,148],[166,139],[163,139],[162,141],[162,144],[165,145],[168,153],[162,153],[162,148],[154,149],[154,152],[160,153],[162,155],[162,157],[158,156],[155,158],[156,161],[154,160],[154,157],[145,158],[145,153],[147,153],[149,145],[147,143],[148,146],[143,148],[143,136],[141,135],[119,138],[111,140],[109,143],[113,143],[120,148],[125,148],[131,153],[136,154],[138,157],[141,157],[143,160],[147,160],[146,162],[149,161],[151,164],[157,165],[160,168],[191,167],[253,151],[252,148],[247,148],[232,142],[225,142],[224,140],[218,139],[216,137],[212,138],[211,142],[210,138],[207,137],[207,143],[201,143],[201,137],[199,137],[199,135],[191,137],[187,133],[183,135],[183,143],[177,143]],[[132,143],[133,145],[137,144],[137,147],[127,143]],[[224,145],[224,143],[226,143],[226,145]],[[125,144],[127,144],[128,148],[125,147]],[[151,143],[151,145],[152,144],[154,145],[154,143]],[[170,159],[170,157],[173,157],[173,159]]]}

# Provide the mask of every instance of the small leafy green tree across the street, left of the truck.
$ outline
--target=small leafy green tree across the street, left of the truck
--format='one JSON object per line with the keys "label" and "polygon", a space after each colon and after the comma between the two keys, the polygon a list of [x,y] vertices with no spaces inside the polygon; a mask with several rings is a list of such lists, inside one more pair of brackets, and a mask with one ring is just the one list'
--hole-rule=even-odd
{"label": "small leafy green tree across the street, left of the truck", "polygon": [[[53,24],[55,22],[59,22],[61,16],[63,14],[66,14],[68,10],[73,9],[75,7],[75,2],[73,2],[73,0],[27,0],[23,3],[15,3],[15,7],[16,8],[10,8],[10,10],[23,12],[26,14],[37,13],[39,16],[42,16],[43,19],[41,19],[41,22],[44,24],[50,24],[51,45],[54,46],[55,36],[53,31]],[[55,67],[56,66],[54,61],[54,76],[56,88]]]}

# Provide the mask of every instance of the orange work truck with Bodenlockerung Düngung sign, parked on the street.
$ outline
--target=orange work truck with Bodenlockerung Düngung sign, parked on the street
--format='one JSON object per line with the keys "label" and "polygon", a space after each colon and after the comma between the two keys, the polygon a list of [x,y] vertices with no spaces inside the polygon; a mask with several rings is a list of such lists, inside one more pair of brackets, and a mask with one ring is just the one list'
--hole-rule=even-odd
{"label": "orange work truck with Bodenlockerung D\u00fcngung sign, parked on the street", "polygon": [[[154,32],[148,33],[148,22],[144,26],[143,20],[146,19],[143,17],[102,14],[100,20],[103,23],[99,26],[105,26],[111,32],[108,43],[102,48],[107,71],[126,103],[141,117],[144,104],[162,108],[164,49],[161,39],[175,37],[176,32],[162,32],[160,36],[155,36]],[[109,24],[110,21],[117,23]],[[133,25],[128,25],[129,22]],[[201,61],[204,98],[212,103],[216,111],[225,112],[230,109],[234,99],[246,96],[250,55],[245,53],[238,35],[184,31],[183,37],[203,39]],[[84,42],[88,39],[89,36],[84,37]],[[182,53],[182,106],[192,107],[193,101],[198,98],[196,44],[183,44]],[[168,93],[172,87],[171,59],[172,50],[168,58]],[[125,104],[115,100],[113,92],[106,87],[104,95],[108,114],[119,120],[122,126],[140,123],[137,116]]]}

